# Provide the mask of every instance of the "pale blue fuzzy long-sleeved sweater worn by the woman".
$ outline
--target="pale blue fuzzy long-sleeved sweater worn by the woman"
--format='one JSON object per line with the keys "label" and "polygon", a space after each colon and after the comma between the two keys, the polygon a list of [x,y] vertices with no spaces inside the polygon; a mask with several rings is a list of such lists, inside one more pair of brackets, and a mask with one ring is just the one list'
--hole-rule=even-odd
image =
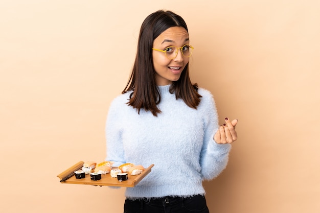
{"label": "pale blue fuzzy long-sleeved sweater worn by the woman", "polygon": [[154,164],[136,186],[126,189],[129,199],[204,195],[202,180],[217,177],[226,167],[230,145],[213,140],[218,115],[212,94],[203,88],[197,109],[188,107],[170,85],[159,86],[162,113],[128,106],[130,92],[112,101],[106,124],[107,158],[115,166],[125,162]]}

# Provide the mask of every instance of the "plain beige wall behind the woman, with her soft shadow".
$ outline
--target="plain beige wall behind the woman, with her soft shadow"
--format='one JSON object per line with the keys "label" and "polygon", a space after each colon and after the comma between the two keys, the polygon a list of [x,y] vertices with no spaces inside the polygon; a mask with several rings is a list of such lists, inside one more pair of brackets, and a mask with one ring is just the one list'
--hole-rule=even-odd
{"label": "plain beige wall behind the woman, with her soft shadow", "polygon": [[227,169],[204,183],[211,211],[319,212],[316,0],[2,0],[2,211],[122,212],[123,189],[56,175],[104,160],[109,104],[128,79],[142,21],[157,9],[185,18],[192,81],[214,93],[221,122],[239,119]]}

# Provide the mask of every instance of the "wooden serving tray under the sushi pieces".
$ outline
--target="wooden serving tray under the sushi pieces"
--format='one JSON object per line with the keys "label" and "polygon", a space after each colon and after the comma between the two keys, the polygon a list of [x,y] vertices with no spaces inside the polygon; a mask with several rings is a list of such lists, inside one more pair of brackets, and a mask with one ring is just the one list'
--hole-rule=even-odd
{"label": "wooden serving tray under the sushi pieces", "polygon": [[[121,186],[121,187],[134,187],[138,184],[147,174],[151,172],[151,168],[154,164],[151,164],[143,173],[140,175],[129,175],[128,180],[125,181],[118,181],[117,178],[113,178],[109,174],[101,175],[100,180],[91,180],[90,174],[85,175],[85,178],[77,179],[74,175],[74,172],[77,170],[81,170],[83,167],[83,161],[79,161],[78,163],[74,164],[72,167],[68,168],[64,172],[57,175],[60,178],[61,183],[73,183],[73,184],[85,184],[85,185],[107,185],[107,186]],[[115,169],[113,167],[112,169]]]}

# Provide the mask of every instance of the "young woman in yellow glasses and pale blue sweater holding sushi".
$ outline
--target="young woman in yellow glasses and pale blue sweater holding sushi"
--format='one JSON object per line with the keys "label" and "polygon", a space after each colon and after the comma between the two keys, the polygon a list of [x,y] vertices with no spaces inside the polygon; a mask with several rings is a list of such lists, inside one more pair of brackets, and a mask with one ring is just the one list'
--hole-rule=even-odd
{"label": "young woman in yellow glasses and pale blue sweater holding sushi", "polygon": [[226,167],[237,120],[218,125],[212,94],[189,78],[187,25],[171,11],[142,23],[132,74],[112,101],[107,158],[152,171],[126,189],[124,212],[209,212],[202,181]]}

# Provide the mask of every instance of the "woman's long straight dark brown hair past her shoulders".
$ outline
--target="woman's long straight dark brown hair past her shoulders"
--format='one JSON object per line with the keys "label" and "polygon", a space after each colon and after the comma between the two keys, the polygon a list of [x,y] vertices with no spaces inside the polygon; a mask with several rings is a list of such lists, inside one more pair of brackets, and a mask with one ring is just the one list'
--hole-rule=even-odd
{"label": "woman's long straight dark brown hair past her shoulders", "polygon": [[[150,110],[154,116],[161,113],[157,104],[161,101],[161,93],[156,85],[155,70],[152,60],[153,40],[171,27],[183,27],[188,32],[186,22],[179,15],[158,10],[150,14],[142,23],[138,40],[138,49],[129,81],[122,91],[130,94],[129,106]],[[189,77],[189,63],[182,70],[179,80],[172,83],[170,93],[175,92],[176,99],[182,99],[191,108],[197,109],[200,103],[198,85],[192,84]]]}

